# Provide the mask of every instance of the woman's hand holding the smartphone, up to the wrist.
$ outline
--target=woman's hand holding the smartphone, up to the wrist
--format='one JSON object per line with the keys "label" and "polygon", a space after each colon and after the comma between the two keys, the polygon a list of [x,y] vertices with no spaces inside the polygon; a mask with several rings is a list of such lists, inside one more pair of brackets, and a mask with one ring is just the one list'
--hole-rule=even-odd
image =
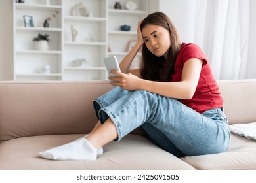
{"label": "woman's hand holding the smartphone, up to the wrist", "polygon": [[140,90],[140,78],[131,74],[131,73],[121,73],[119,71],[113,70],[111,73],[116,74],[118,77],[111,76],[109,77],[112,82],[110,84],[114,86],[120,86],[125,90]]}

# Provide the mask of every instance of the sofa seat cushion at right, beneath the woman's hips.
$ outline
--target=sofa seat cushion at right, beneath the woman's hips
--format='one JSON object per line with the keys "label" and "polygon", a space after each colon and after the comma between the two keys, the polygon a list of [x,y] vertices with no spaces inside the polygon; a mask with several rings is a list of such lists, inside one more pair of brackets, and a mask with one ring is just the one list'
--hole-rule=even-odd
{"label": "sofa seat cushion at right, beneath the woman's hips", "polygon": [[186,156],[181,159],[196,169],[256,169],[256,141],[232,134],[230,146],[226,152]]}

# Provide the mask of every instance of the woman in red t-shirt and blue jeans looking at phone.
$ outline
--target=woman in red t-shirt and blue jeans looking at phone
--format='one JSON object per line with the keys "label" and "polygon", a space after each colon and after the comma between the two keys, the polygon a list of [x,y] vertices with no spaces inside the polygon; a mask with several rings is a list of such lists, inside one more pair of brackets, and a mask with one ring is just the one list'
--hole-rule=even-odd
{"label": "woman in red t-shirt and blue jeans looking at phone", "polygon": [[[180,43],[169,18],[149,14],[137,29],[137,43],[110,77],[117,86],[93,102],[98,123],[89,135],[40,152],[46,159],[95,160],[102,146],[141,126],[154,144],[181,156],[224,152],[230,130],[223,98],[205,54]],[[130,70],[142,46],[140,69]]]}

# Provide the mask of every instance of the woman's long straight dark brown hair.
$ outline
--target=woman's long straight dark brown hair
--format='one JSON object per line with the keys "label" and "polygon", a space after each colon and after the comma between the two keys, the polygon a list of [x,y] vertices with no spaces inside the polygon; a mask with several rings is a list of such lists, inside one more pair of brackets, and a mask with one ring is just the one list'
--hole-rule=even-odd
{"label": "woman's long straight dark brown hair", "polygon": [[142,46],[142,61],[140,66],[141,76],[146,80],[169,82],[172,78],[171,76],[175,72],[175,60],[181,48],[177,30],[173,25],[173,22],[171,22],[168,16],[162,12],[154,12],[144,18],[140,24],[140,30],[142,31],[148,24],[159,25],[167,29],[171,37],[171,47],[169,48],[167,58],[165,59],[164,56],[157,57],[152,54],[150,50],[146,48],[146,44],[144,43]]}

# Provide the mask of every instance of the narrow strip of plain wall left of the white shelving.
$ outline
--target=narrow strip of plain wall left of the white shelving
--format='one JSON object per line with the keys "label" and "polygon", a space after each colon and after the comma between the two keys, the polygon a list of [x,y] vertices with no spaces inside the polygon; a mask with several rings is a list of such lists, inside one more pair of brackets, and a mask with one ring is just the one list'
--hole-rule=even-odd
{"label": "narrow strip of plain wall left of the white shelving", "polygon": [[0,80],[12,80],[12,1],[0,2]]}

